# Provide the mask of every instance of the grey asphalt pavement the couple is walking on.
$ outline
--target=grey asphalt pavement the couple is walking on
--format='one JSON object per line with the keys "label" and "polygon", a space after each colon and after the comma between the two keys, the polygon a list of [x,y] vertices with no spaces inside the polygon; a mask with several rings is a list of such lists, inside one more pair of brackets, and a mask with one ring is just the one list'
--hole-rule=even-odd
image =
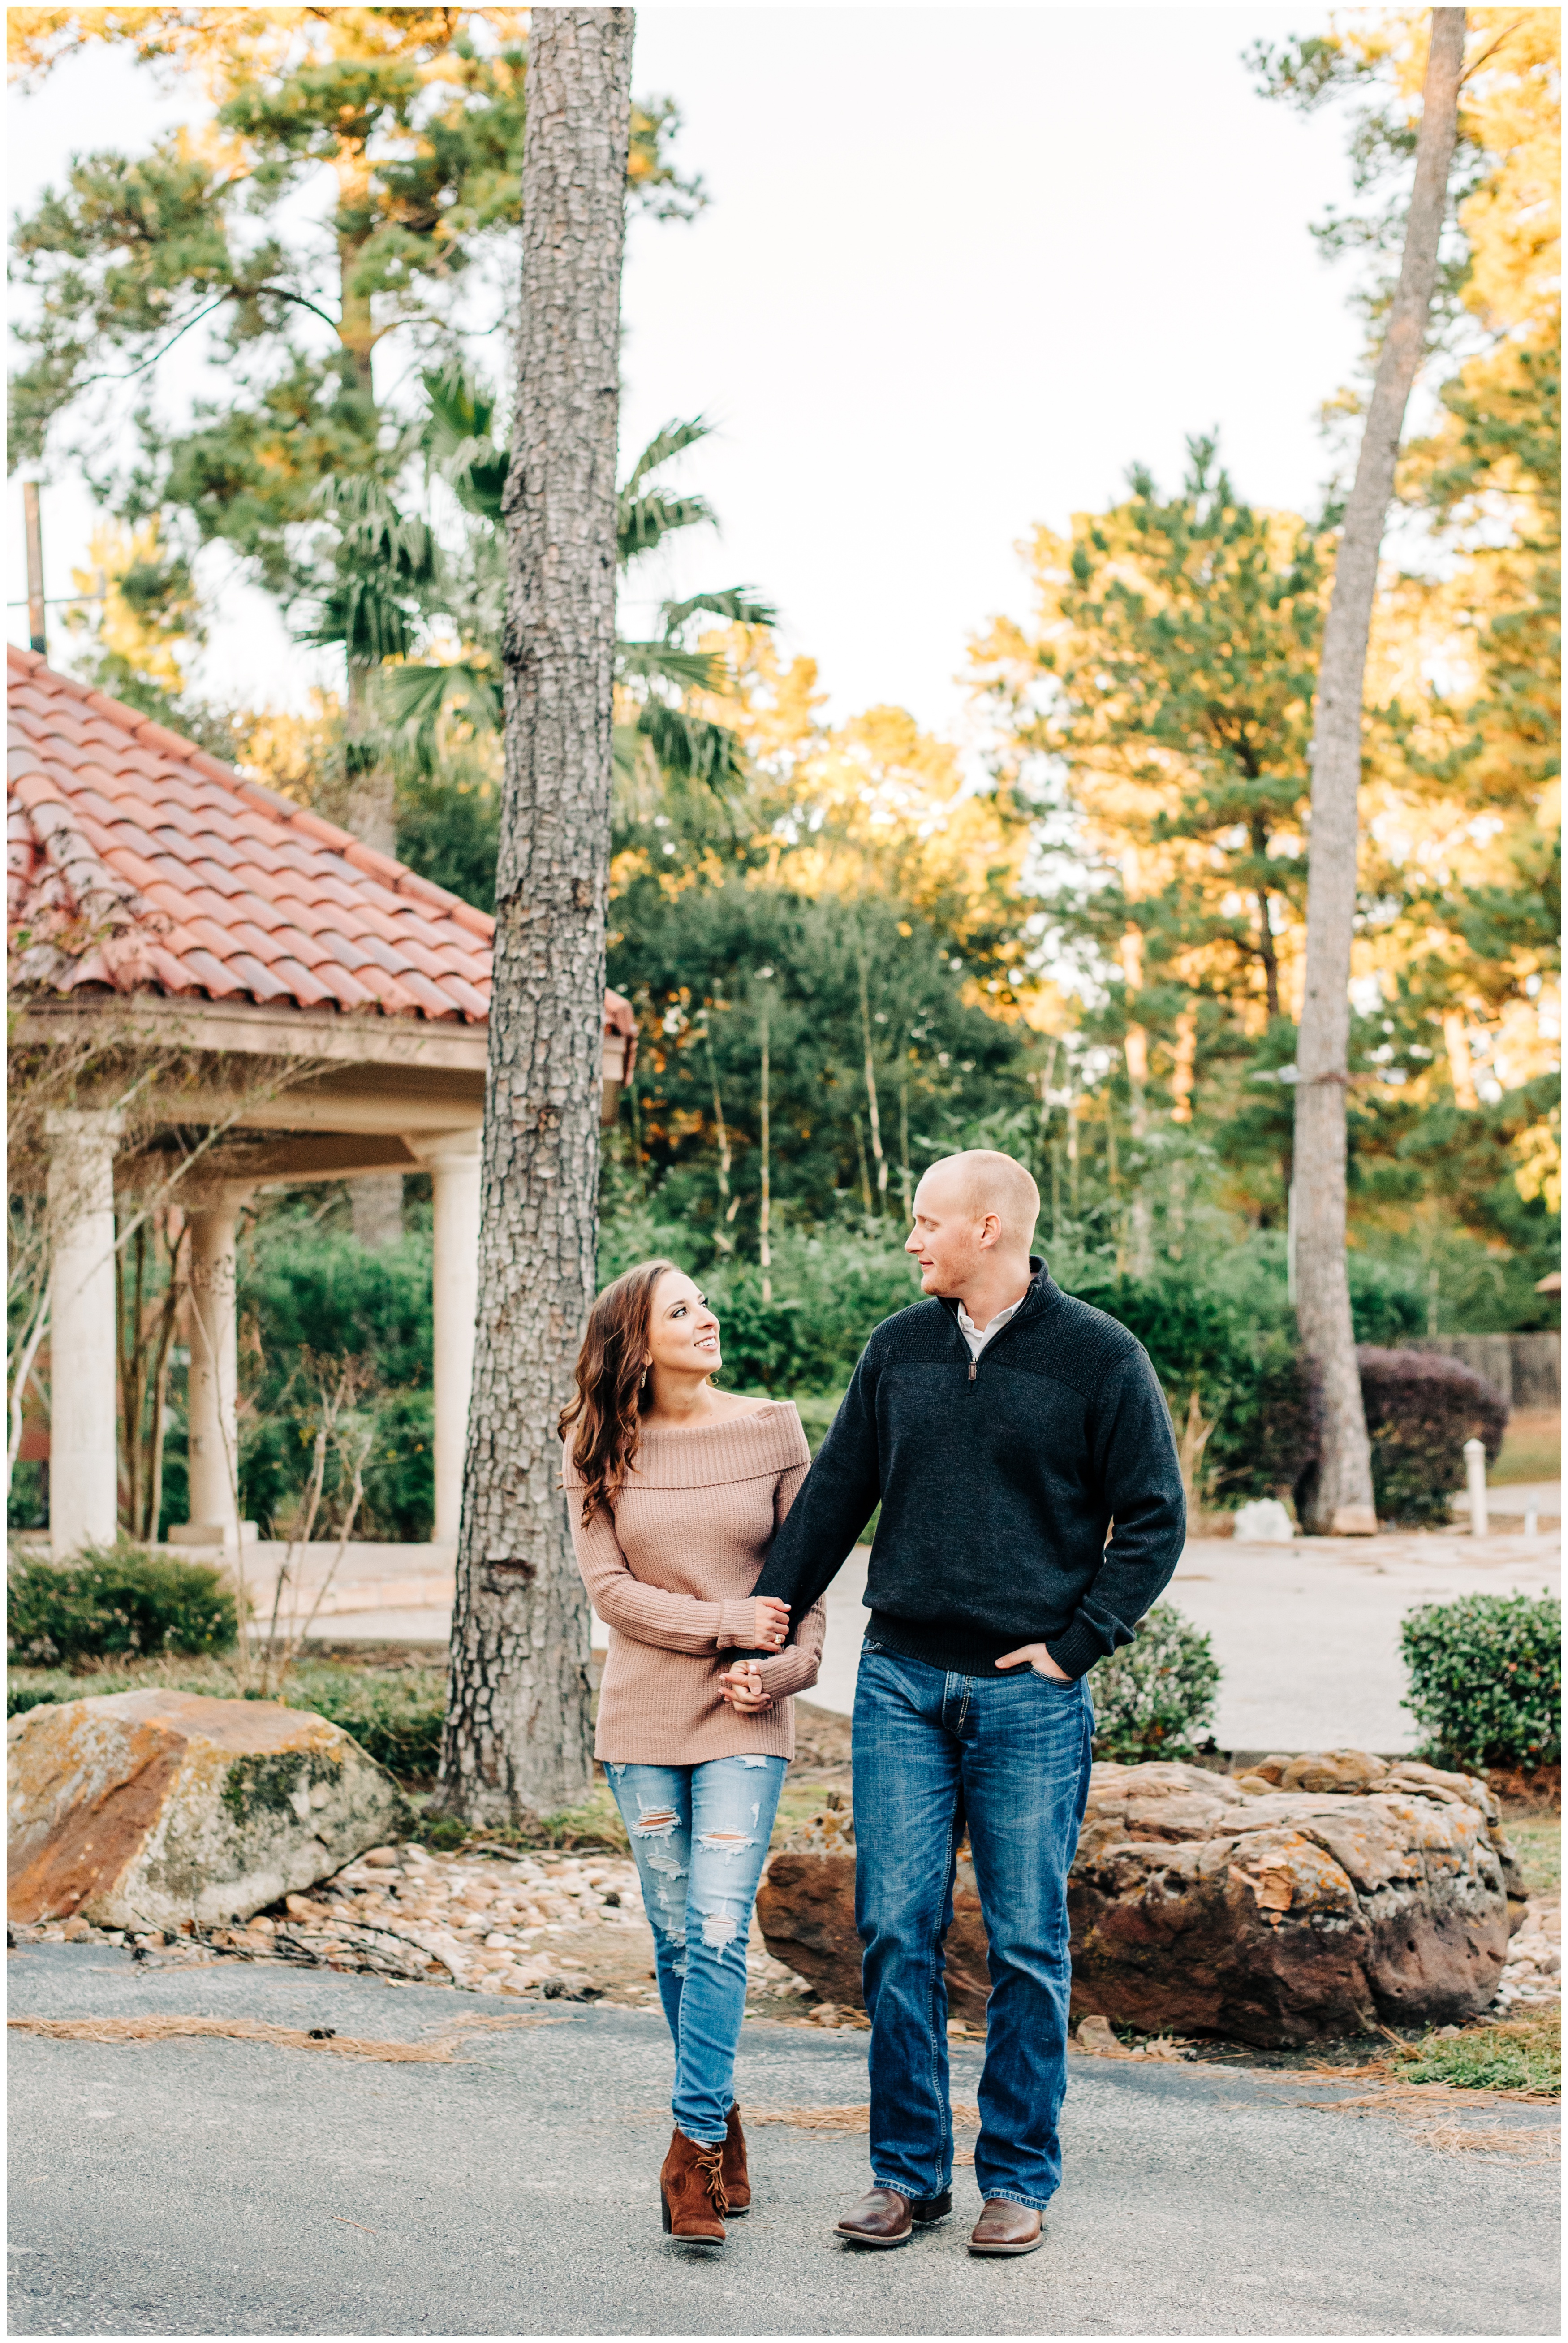
{"label": "grey asphalt pavement the couple is walking on", "polygon": [[[12,1954],[12,2017],[209,2015],[422,2041],[485,1996],[281,1968]],[[12,2334],[1556,2334],[1556,2174],[1216,2067],[1073,2057],[1048,2245],[973,2261],[977,2209],[895,2254],[837,2242],[865,2137],[757,2125],[722,2254],[661,2238],[654,2015],[459,2027],[459,2062],[246,2041],[9,2036]],[[977,2050],[954,2045],[975,2097]],[[741,2102],[863,2102],[865,2034],[748,2024]],[[1533,2109],[1477,2111],[1521,2127]]]}

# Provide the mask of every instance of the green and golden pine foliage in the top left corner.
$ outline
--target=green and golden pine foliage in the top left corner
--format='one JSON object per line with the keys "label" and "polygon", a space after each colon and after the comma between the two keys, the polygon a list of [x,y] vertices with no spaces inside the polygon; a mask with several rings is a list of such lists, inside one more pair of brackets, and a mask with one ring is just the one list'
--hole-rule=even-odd
{"label": "green and golden pine foliage in the top left corner", "polygon": [[[145,7],[7,12],[12,68],[49,73],[89,45],[129,52],[211,105],[143,152],[70,162],[14,232],[35,302],[12,382],[12,462],[87,457],[105,504],[164,513],[232,546],[293,604],[316,583],[300,548],[326,478],[389,483],[403,462],[375,354],[443,354],[492,284],[520,218],[527,9]],[[668,101],[635,108],[628,190],[689,213],[666,148]],[[302,197],[326,180],[319,216]],[[260,232],[258,232],[260,230]],[[490,314],[483,316],[490,323]],[[141,462],[110,478],[91,452],[188,333],[223,396],[188,424],[136,415]]]}

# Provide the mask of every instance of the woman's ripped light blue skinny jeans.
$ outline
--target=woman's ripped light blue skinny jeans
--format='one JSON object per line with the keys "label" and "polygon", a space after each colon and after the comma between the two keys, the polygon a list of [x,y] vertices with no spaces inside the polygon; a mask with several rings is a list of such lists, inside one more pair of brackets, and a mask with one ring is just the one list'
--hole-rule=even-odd
{"label": "woman's ripped light blue skinny jeans", "polygon": [[659,1999],[675,2038],[675,2123],[715,2149],[734,2102],[745,1940],[785,1760],[607,1764],[605,1774],[654,1928]]}

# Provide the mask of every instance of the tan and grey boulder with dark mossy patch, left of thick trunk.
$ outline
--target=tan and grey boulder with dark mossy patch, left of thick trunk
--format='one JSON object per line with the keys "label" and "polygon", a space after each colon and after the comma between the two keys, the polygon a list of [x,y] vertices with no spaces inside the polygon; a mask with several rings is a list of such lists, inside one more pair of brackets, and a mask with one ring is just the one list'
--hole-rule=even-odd
{"label": "tan and grey boulder with dark mossy patch, left of thick trunk", "polygon": [[7,1724],[14,1921],[211,1928],[394,1830],[398,1788],[342,1727],[274,1701],[115,1692]]}

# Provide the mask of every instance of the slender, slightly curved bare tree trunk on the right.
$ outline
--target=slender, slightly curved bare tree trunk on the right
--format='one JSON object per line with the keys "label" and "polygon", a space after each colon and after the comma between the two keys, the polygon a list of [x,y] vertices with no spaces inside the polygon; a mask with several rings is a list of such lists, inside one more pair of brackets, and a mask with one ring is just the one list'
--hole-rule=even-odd
{"label": "slender, slightly curved bare tree trunk on the right", "polygon": [[1399,288],[1366,408],[1317,668],[1305,993],[1296,1043],[1296,1321],[1322,1389],[1322,1448],[1308,1528],[1341,1537],[1371,1535],[1378,1525],[1345,1275],[1345,1089],[1362,686],[1399,433],[1437,284],[1463,66],[1465,9],[1432,9]]}

